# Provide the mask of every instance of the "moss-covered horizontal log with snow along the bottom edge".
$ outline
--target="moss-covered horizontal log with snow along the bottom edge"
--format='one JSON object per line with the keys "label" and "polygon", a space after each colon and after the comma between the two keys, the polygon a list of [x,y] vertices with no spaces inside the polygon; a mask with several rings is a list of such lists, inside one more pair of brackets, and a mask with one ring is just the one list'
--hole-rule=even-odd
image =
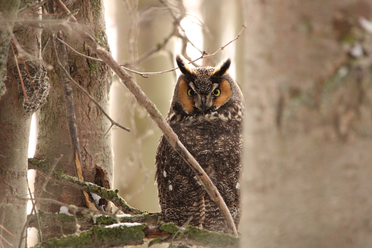
{"label": "moss-covered horizontal log with snow along the bottom edge", "polygon": [[[176,237],[174,237],[174,235]],[[198,247],[239,247],[239,238],[202,228],[187,226],[179,228],[174,223],[160,222],[157,226],[147,223],[118,223],[109,226],[93,226],[79,234],[70,234],[60,238],[51,238],[34,248],[60,247],[115,247],[140,245],[144,238],[152,239],[151,244],[169,243],[197,245]]]}

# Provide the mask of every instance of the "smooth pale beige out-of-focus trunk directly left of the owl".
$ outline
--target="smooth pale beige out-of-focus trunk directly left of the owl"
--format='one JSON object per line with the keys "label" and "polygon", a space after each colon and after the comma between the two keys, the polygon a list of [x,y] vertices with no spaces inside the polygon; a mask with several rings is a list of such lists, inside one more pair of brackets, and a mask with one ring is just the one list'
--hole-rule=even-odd
{"label": "smooth pale beige out-of-focus trunk directly left of the owl", "polygon": [[[118,17],[118,20],[121,21],[118,23],[126,26],[126,28],[118,27],[118,41],[121,44],[118,61],[120,63],[129,62],[130,65],[137,67],[138,71],[144,72],[164,71],[173,67],[171,56],[167,52],[155,53],[140,64],[131,63],[154,46],[161,44],[166,36],[172,32],[174,20],[169,10],[151,10],[152,7],[164,7],[159,1],[138,1],[138,13],[136,13],[135,1],[130,2],[133,10],[130,13],[131,16],[129,13],[128,16],[132,19],[128,20],[128,17],[125,18],[122,13],[119,13],[122,16]],[[123,3],[116,4],[119,5],[118,9],[128,11]],[[144,16],[141,16],[138,23],[136,15],[142,14]],[[123,19],[126,20],[122,21]],[[128,30],[128,27],[131,27],[131,29]],[[166,48],[171,50],[171,46],[170,43]],[[135,75],[138,85],[164,116],[167,115],[169,110],[169,100],[175,84],[173,75],[172,73],[150,75],[150,78]],[[113,97],[121,98],[121,103],[115,104],[116,110],[113,114],[122,116],[120,123],[125,123],[124,125],[132,129],[130,133],[123,133],[119,129],[113,131],[115,137],[113,142],[115,173],[118,173],[115,178],[119,178],[116,185],[121,195],[128,200],[131,206],[145,211],[157,212],[160,208],[157,187],[154,185],[154,164],[161,132],[154,126],[148,114],[141,107],[138,107],[136,100],[126,89],[115,84],[113,87],[115,87]],[[123,106],[125,106],[125,110],[122,109]]]}

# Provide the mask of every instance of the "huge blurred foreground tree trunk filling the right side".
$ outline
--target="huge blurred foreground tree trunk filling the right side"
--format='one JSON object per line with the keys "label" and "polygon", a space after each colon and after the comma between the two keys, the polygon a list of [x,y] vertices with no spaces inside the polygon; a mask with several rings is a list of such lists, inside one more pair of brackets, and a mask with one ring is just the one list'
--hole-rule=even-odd
{"label": "huge blurred foreground tree trunk filling the right side", "polygon": [[242,247],[372,244],[371,7],[246,1]]}

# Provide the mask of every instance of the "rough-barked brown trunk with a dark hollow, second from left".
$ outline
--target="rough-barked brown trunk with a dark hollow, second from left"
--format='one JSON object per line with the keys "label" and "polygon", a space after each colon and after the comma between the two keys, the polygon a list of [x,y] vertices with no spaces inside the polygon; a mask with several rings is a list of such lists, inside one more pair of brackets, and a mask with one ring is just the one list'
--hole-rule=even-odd
{"label": "rough-barked brown trunk with a dark hollow, second from left", "polygon": [[[71,11],[79,10],[75,15],[81,25],[86,25],[92,35],[108,46],[106,38],[106,27],[103,12],[103,0],[74,1],[72,6],[67,6]],[[58,9],[57,9],[58,12]],[[48,35],[44,37],[44,44]],[[91,57],[96,57],[89,46],[74,33],[64,32],[64,40],[76,51]],[[58,42],[58,41],[56,41]],[[54,69],[49,71],[51,79],[51,91],[48,103],[41,108],[38,126],[38,143],[35,151],[35,158],[45,159],[54,162],[55,158],[64,157],[58,163],[58,167],[70,175],[76,175],[73,161],[73,151],[68,135],[66,120],[66,108],[63,97],[63,89],[60,70],[54,62],[54,56],[50,48],[45,52],[44,59],[53,65]],[[67,48],[70,74],[83,88],[85,88],[94,99],[109,112],[109,91],[112,83],[112,71],[109,67],[94,60],[84,58],[71,49]],[[43,51],[44,54],[44,51]],[[80,141],[81,157],[85,180],[111,188],[113,179],[111,134],[105,135],[110,127],[109,120],[84,94],[73,86],[74,107],[78,138]],[[41,190],[44,178],[36,176],[35,191]],[[45,197],[74,204],[86,206],[81,191],[68,186],[48,184]],[[60,211],[58,204],[39,201],[39,209],[45,212],[56,213]],[[105,210],[110,211],[110,205],[105,205]],[[64,234],[68,230],[63,230]],[[48,232],[48,233],[47,233]],[[44,230],[45,235],[60,235],[61,230]]]}

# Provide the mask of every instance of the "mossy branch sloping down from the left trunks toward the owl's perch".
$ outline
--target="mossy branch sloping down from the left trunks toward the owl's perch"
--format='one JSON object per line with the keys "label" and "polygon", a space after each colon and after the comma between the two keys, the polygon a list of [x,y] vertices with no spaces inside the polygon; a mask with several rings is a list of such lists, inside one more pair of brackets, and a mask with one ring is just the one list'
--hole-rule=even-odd
{"label": "mossy branch sloping down from the left trunks toward the owl's perch", "polygon": [[[28,168],[37,170],[39,174],[45,177],[47,173],[49,173],[51,166],[50,164],[48,164],[48,162],[44,160],[36,160],[35,158],[29,158]],[[133,215],[144,213],[144,211],[142,210],[135,209],[134,207],[129,206],[129,204],[126,203],[126,201],[121,196],[119,196],[118,190],[106,189],[93,183],[84,182],[76,177],[65,174],[62,170],[58,168],[53,171],[51,180],[56,183],[68,184],[69,186],[72,186],[76,189],[85,190],[97,194],[100,197],[111,201],[113,204],[115,204],[116,207],[118,207],[119,210],[123,211],[124,213]]]}

